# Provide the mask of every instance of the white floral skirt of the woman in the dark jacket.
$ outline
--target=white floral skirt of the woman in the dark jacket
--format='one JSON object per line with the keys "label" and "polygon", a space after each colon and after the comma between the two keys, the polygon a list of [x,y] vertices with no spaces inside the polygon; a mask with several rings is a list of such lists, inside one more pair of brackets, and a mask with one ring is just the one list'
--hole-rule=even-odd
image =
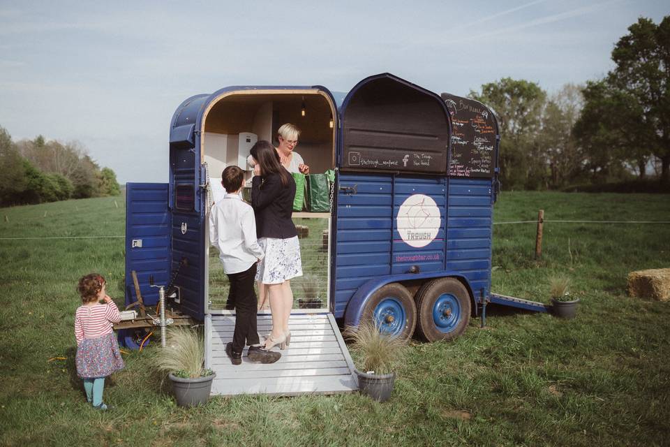
{"label": "white floral skirt of the woman in the dark jacket", "polygon": [[258,263],[256,281],[262,281],[263,284],[281,284],[287,279],[302,276],[297,236],[288,239],[261,237],[258,244],[265,251],[265,258]]}

